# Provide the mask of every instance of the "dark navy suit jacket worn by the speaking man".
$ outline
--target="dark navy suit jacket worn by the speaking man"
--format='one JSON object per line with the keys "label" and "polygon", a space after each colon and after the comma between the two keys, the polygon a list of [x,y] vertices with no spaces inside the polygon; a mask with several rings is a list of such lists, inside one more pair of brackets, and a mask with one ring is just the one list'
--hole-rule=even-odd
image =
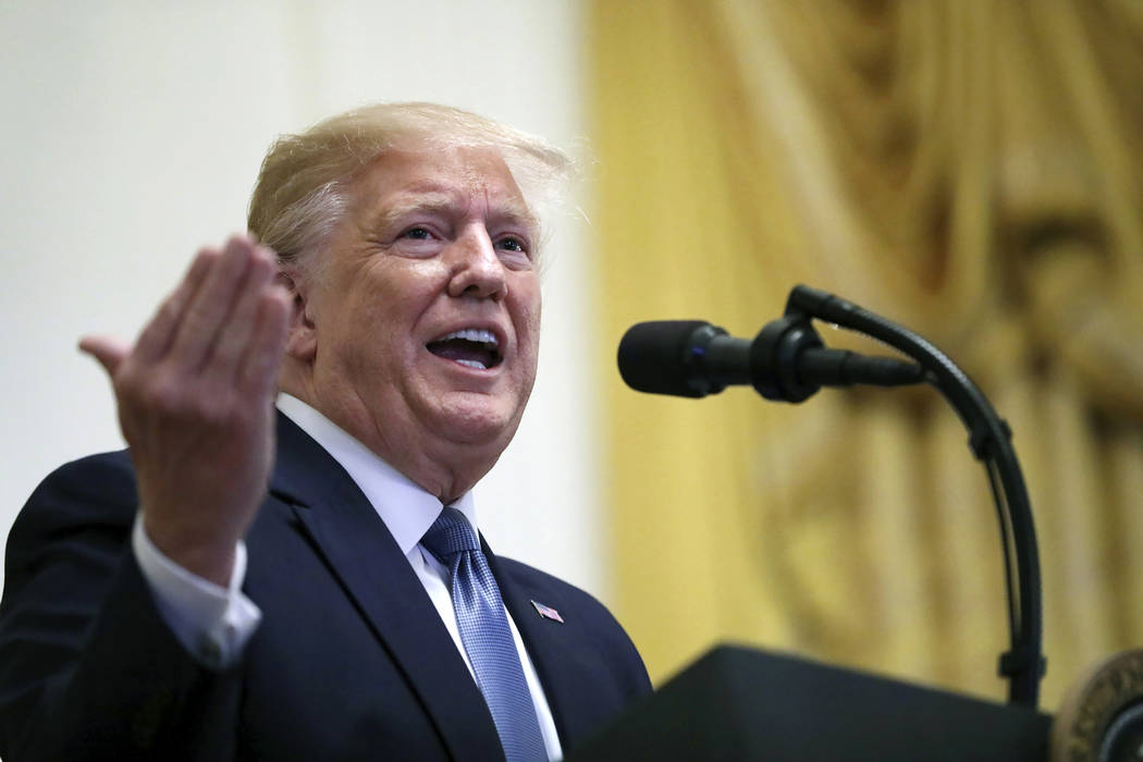
{"label": "dark navy suit jacket worn by the speaking man", "polygon": [[[53,473],[16,520],[0,603],[5,760],[503,759],[389,530],[285,416],[246,538],[263,621],[237,667],[203,667],[160,618],[130,552],[136,502],[130,458],[112,452]],[[485,550],[568,752],[649,692],[647,673],[598,601]]]}

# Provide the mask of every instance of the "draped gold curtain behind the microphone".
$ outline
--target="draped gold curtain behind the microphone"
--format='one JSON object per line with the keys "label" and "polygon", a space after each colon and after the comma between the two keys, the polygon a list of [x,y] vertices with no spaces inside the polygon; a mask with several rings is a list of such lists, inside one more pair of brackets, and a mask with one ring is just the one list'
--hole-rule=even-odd
{"label": "draped gold curtain behind the microphone", "polygon": [[[797,282],[913,328],[1015,432],[1041,704],[1143,643],[1143,5],[590,8],[600,362],[638,320],[752,336]],[[605,400],[617,609],[656,680],[733,640],[1004,697],[997,518],[935,391]]]}

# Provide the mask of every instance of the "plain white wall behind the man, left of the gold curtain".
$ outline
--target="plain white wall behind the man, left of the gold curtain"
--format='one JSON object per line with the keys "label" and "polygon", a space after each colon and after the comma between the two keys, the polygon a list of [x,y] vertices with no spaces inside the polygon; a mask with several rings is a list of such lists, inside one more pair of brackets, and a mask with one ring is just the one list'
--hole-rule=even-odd
{"label": "plain white wall behind the man, left of the gold curtain", "polygon": [[[566,145],[578,24],[574,0],[0,3],[0,534],[51,468],[122,446],[75,343],[133,337],[198,246],[243,227],[275,134],[426,99]],[[585,240],[551,242],[536,391],[478,505],[498,552],[606,593]]]}

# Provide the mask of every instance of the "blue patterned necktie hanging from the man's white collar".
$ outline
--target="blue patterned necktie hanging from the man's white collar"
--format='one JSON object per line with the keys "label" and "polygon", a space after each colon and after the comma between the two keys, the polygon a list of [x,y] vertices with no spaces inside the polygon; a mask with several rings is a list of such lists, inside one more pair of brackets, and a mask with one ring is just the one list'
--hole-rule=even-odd
{"label": "blue patterned necktie hanging from the man's white collar", "polygon": [[421,540],[448,568],[461,642],[485,695],[507,762],[547,759],[523,667],[512,640],[499,587],[477,534],[459,511],[446,506]]}

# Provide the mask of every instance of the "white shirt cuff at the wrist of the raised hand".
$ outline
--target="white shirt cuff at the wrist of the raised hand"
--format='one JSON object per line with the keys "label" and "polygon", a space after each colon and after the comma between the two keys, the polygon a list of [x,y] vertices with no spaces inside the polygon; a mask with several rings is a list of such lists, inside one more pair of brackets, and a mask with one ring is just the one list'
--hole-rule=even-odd
{"label": "white shirt cuff at the wrist of the raised hand", "polygon": [[234,570],[227,587],[168,559],[146,536],[142,512],[135,518],[131,548],[159,613],[175,637],[205,666],[224,668],[235,664],[262,621],[262,610],[241,589],[246,544],[239,540],[234,548]]}

